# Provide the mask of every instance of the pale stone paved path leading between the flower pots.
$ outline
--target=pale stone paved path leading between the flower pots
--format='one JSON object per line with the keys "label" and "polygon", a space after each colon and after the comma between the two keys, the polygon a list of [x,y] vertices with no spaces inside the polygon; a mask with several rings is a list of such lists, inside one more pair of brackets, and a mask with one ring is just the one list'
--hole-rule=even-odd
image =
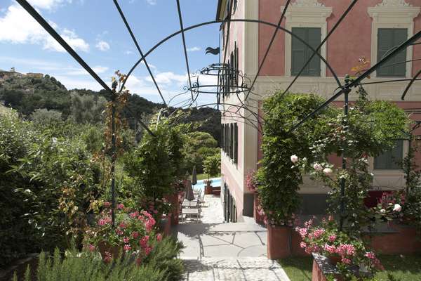
{"label": "pale stone paved path leading between the flower pots", "polygon": [[180,223],[173,235],[185,244],[186,281],[289,281],[267,259],[267,230],[256,223],[224,223],[219,197],[205,197],[201,223]]}

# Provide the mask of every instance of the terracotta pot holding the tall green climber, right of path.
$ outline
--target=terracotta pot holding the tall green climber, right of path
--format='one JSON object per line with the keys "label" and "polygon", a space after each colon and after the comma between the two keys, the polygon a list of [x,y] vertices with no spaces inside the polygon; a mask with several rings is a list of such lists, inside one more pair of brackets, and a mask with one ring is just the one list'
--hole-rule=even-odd
{"label": "terracotta pot holding the tall green climber, right of path", "polygon": [[267,225],[267,257],[283,259],[291,254],[291,233],[289,226]]}

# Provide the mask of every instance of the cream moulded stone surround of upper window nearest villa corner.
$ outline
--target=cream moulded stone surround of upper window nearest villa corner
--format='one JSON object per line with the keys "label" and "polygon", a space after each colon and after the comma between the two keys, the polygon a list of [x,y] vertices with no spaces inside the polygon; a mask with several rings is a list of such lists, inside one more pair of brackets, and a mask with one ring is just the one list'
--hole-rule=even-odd
{"label": "cream moulded stone surround of upper window nearest villa corner", "polygon": [[[281,7],[281,13],[285,7]],[[332,7],[326,7],[314,0],[297,0],[286,12],[286,30],[292,31],[293,27],[319,27],[321,29],[321,39],[323,41],[328,34],[328,22],[326,19],[332,14]],[[291,46],[292,39],[290,34],[285,36],[285,76],[291,76]],[[320,48],[320,54],[326,59],[327,48],[323,44]],[[320,77],[326,77],[326,64],[320,62]]]}

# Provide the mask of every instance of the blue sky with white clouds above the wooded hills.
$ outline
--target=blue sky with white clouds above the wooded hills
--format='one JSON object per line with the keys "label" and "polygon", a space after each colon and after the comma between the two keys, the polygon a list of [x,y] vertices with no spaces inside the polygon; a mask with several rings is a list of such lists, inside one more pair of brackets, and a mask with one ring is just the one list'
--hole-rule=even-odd
{"label": "blue sky with white clouds above the wooded hills", "polygon": [[[217,0],[180,0],[185,27],[215,19]],[[128,72],[139,54],[112,0],[29,0],[98,75],[109,84],[115,70]],[[147,52],[163,37],[180,30],[175,0],[119,0],[142,51]],[[218,46],[219,25],[186,32],[190,71],[218,56],[205,55],[208,46]],[[187,85],[187,70],[181,36],[173,37],[147,57],[168,100]],[[14,0],[0,0],[0,69],[42,72],[56,77],[67,89],[99,90],[100,85]],[[159,102],[145,65],[128,81],[132,93]],[[201,96],[201,103],[215,100]]]}

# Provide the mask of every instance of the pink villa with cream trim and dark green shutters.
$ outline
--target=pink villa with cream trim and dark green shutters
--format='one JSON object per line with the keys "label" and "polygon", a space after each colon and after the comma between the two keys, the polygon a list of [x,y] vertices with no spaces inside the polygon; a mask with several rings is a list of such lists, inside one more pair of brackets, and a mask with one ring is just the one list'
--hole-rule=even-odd
{"label": "pink villa with cream trim and dark green shutters", "polygon": [[[231,1],[233,19],[256,19],[277,25],[285,0],[219,0],[217,20],[227,18],[228,1]],[[351,1],[338,0],[293,0],[291,1],[282,27],[307,41],[316,48],[338,21]],[[346,74],[352,74],[359,58],[366,58],[371,65],[377,62],[390,48],[401,44],[415,32],[421,30],[420,0],[364,0],[359,1],[342,24],[321,47],[320,54],[333,68],[341,81]],[[227,48],[226,62],[230,63],[253,79],[265,55],[274,27],[255,22],[232,22],[227,37],[227,23],[220,27],[220,60]],[[227,45],[227,46],[225,46]],[[253,192],[246,186],[248,172],[258,169],[261,157],[261,133],[255,126],[260,113],[261,100],[276,90],[286,89],[295,74],[301,69],[312,53],[309,48],[286,32],[279,30],[265,64],[255,83],[253,93],[246,101],[244,94],[225,95],[225,108],[228,113],[222,116],[224,145],[222,157],[222,201],[226,221],[245,221],[253,218],[255,206]],[[399,53],[388,64],[389,67],[375,72],[369,82],[413,77],[421,69],[421,45],[410,46]],[[409,63],[399,63],[415,60]],[[413,119],[421,120],[421,84],[414,83],[401,101],[401,94],[408,81],[365,86],[372,99],[392,100]],[[290,89],[292,92],[317,93],[330,97],[337,89],[333,74],[320,58],[314,57],[301,77]],[[241,102],[240,102],[240,100]],[[354,92],[350,100],[356,99]],[[245,103],[248,110],[227,104]],[[340,104],[340,99],[338,100]],[[233,112],[233,113],[229,113]],[[397,141],[396,148],[380,157],[370,159],[373,171],[373,190],[394,190],[405,184],[403,171],[396,160],[405,157],[408,141]],[[420,155],[419,155],[420,156]],[[421,157],[418,157],[421,160]],[[333,161],[335,162],[335,161]],[[305,179],[300,189],[302,209],[300,214],[323,214],[326,210],[326,188]]]}

